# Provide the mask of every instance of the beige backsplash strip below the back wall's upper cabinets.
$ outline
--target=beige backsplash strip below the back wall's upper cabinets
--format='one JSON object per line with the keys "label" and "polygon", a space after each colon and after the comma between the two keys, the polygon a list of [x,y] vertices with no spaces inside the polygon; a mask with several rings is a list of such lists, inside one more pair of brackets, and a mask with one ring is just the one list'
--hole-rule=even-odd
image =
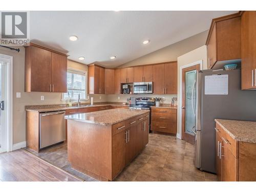
{"label": "beige backsplash strip below the back wall's upper cabinets", "polygon": [[[118,99],[119,97],[119,99]],[[177,95],[157,95],[157,94],[118,94],[118,95],[106,95],[106,100],[108,102],[126,102],[127,98],[130,97],[160,97],[162,100],[160,103],[171,103],[173,97],[177,97]]]}

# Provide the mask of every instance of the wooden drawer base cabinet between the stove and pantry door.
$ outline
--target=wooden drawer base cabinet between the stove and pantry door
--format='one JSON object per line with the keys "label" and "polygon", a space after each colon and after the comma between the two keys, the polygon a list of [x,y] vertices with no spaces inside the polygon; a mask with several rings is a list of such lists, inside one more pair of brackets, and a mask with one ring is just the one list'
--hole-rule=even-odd
{"label": "wooden drawer base cabinet between the stove and pantry door", "polygon": [[151,130],[169,134],[177,133],[177,110],[152,108]]}

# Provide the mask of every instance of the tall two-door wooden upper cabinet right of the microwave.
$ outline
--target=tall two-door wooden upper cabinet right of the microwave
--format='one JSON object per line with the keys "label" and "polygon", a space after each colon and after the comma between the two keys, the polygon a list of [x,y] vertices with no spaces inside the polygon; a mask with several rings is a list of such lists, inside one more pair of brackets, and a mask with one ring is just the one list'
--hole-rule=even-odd
{"label": "tall two-door wooden upper cabinet right of the microwave", "polygon": [[153,93],[177,94],[177,61],[153,65]]}

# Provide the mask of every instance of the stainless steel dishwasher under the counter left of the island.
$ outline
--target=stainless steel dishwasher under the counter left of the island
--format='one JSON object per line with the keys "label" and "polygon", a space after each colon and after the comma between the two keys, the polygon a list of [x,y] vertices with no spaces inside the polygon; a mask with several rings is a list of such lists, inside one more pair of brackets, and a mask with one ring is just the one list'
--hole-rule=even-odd
{"label": "stainless steel dishwasher under the counter left of the island", "polygon": [[66,140],[65,111],[40,113],[40,148]]}

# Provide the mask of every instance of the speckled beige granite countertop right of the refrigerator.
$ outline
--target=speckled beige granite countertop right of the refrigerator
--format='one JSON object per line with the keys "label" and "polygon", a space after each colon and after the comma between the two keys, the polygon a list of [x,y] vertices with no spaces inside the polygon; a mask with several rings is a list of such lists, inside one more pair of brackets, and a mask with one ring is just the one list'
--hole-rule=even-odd
{"label": "speckled beige granite countertop right of the refrigerator", "polygon": [[237,141],[256,143],[256,122],[215,119],[230,137]]}

